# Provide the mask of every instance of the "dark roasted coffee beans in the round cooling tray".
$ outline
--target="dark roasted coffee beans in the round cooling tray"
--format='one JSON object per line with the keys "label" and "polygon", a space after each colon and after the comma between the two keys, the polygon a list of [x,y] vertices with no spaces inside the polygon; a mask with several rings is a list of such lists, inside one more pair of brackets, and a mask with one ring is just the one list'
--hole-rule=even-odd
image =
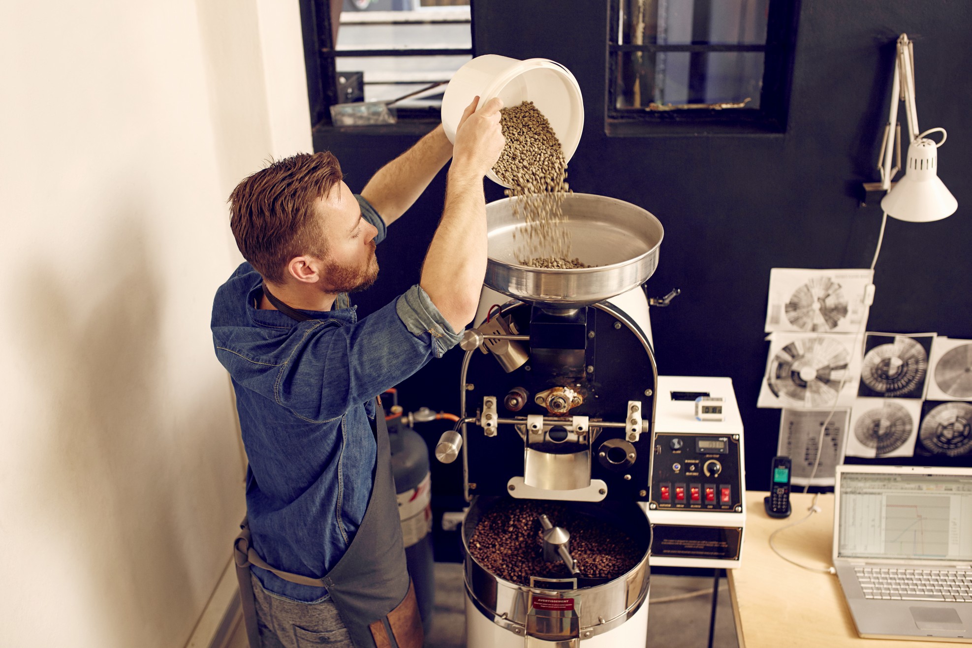
{"label": "dark roasted coffee beans in the round cooling tray", "polygon": [[571,556],[581,576],[617,578],[644,555],[645,548],[626,533],[569,505],[524,499],[502,500],[489,509],[472,531],[469,551],[491,573],[517,585],[529,586],[531,576],[569,578],[564,563],[543,561],[539,516],[544,513],[570,531]]}

